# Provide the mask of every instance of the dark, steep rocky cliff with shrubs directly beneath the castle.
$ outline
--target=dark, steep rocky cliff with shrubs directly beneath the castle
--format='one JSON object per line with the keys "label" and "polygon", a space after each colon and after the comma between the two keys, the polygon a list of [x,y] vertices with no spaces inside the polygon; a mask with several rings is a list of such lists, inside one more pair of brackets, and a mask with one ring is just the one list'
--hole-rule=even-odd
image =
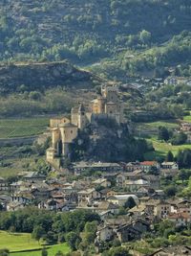
{"label": "dark, steep rocky cliff with shrubs directly beneath the castle", "polygon": [[135,161],[148,151],[146,141],[135,139],[127,124],[104,119],[88,125],[71,146],[72,160],[101,162]]}

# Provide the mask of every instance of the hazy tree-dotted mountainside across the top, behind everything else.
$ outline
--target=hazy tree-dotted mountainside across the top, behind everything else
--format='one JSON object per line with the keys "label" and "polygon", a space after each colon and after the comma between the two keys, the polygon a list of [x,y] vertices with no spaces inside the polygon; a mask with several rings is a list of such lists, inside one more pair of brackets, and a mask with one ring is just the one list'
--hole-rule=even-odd
{"label": "hazy tree-dotted mountainside across the top, behind everything else", "polygon": [[186,0],[4,0],[0,13],[4,61],[90,64],[159,46],[191,27]]}

